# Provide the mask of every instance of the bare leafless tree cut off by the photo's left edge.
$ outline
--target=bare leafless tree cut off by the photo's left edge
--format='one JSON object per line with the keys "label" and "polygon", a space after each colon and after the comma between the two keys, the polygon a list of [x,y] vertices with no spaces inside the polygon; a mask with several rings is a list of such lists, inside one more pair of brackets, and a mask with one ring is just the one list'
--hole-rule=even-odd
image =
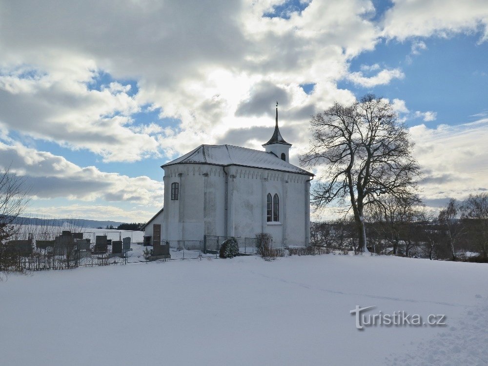
{"label": "bare leafless tree cut off by the photo's left edge", "polygon": [[30,201],[29,189],[22,177],[10,171],[10,166],[0,171],[0,243],[15,233],[14,222]]}

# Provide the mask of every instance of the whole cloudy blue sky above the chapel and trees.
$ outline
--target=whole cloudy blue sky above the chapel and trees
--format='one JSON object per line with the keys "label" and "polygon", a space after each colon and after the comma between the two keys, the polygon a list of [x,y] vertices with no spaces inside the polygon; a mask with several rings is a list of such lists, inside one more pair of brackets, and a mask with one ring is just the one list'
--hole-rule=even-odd
{"label": "whole cloudy blue sky above the chapel and trees", "polygon": [[488,189],[486,0],[0,0],[0,167],[29,214],[144,222],[202,143],[298,165],[310,116],[366,93],[410,129],[429,207]]}

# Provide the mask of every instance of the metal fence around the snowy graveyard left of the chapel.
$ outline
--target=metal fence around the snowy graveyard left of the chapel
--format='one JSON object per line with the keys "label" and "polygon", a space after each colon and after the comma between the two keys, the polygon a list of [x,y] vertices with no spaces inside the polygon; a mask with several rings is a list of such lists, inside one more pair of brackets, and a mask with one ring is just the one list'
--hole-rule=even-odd
{"label": "metal fence around the snowy graveyard left of the chapel", "polygon": [[[68,241],[36,241],[31,238],[0,244],[0,270],[65,269],[158,260],[219,258],[222,243],[231,238],[206,235],[203,240],[163,240],[157,243],[134,243],[130,240],[129,243],[128,237],[121,241],[121,232],[106,232],[108,235],[102,231],[75,234]],[[239,244],[240,255],[257,254],[255,238],[234,239]]]}

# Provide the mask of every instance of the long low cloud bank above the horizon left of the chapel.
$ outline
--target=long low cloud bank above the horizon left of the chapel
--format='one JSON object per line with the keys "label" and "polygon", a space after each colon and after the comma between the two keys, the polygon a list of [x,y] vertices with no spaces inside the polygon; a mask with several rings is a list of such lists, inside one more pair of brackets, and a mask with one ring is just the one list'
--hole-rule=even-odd
{"label": "long low cloud bank above the horizon left of the chapel", "polygon": [[132,202],[163,205],[163,183],[148,177],[128,177],[102,172],[94,166],[80,167],[61,156],[21,144],[0,142],[0,162],[12,163],[12,172],[26,179],[37,199],[66,197],[70,200]]}

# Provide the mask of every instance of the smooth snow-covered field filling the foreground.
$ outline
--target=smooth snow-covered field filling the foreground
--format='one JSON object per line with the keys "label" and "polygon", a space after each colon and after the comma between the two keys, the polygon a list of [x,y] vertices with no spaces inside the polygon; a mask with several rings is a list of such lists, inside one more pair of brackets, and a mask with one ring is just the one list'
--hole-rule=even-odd
{"label": "smooth snow-covered field filling the foreground", "polygon": [[[10,275],[2,365],[487,365],[488,265],[322,255]],[[349,313],[445,314],[371,326]]]}

